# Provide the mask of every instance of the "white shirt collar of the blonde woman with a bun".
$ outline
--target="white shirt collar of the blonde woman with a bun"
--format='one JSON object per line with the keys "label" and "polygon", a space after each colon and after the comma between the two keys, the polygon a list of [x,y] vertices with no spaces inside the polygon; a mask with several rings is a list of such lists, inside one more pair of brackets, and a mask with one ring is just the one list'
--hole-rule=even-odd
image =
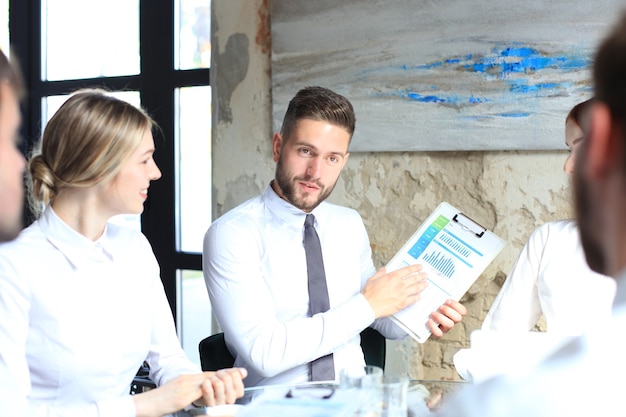
{"label": "white shirt collar of the blonde woman with a bun", "polygon": [[108,236],[108,226],[96,241],[90,240],[68,226],[47,206],[41,218],[39,227],[48,241],[61,252],[67,260],[79,268],[87,262],[111,260],[114,245]]}

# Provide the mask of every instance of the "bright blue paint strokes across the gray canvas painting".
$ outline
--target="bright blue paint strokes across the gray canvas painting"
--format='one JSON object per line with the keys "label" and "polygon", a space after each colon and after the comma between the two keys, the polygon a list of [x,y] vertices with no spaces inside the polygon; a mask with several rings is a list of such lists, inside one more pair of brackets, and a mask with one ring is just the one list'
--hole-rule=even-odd
{"label": "bright blue paint strokes across the gray canvas painting", "polygon": [[[527,106],[521,104],[524,100],[566,96],[573,89],[586,88],[574,85],[566,75],[584,71],[590,63],[588,56],[576,50],[548,54],[513,42],[494,47],[489,54],[468,53],[426,64],[364,70],[357,78],[369,78],[372,72],[382,71],[392,78],[401,76],[403,80],[411,80],[412,85],[401,90],[378,88],[371,92],[375,97],[395,97],[457,109],[471,106],[475,111],[482,104],[519,102],[519,111],[490,116],[523,118],[531,116]],[[464,84],[455,82],[461,79]],[[480,91],[480,95],[475,94],[476,91]]]}

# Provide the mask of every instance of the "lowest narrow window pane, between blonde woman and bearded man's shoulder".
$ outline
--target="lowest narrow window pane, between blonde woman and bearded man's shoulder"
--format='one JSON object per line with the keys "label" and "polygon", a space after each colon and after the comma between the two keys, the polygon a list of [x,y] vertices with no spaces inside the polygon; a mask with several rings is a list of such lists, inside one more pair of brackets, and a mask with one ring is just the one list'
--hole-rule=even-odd
{"label": "lowest narrow window pane, between blonde woman and bearded man's shoulder", "polygon": [[178,329],[179,339],[185,353],[193,362],[200,365],[198,344],[202,339],[213,334],[217,328],[209,295],[204,284],[202,271],[178,270],[177,282],[179,294]]}

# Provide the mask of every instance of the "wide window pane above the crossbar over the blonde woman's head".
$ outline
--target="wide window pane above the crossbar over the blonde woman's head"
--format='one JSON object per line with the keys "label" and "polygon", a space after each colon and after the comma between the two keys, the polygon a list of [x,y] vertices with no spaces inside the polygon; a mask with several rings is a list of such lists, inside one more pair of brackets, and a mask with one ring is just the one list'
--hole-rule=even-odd
{"label": "wide window pane above the crossbar over the blonde woman's head", "polygon": [[139,0],[42,0],[42,79],[139,74]]}

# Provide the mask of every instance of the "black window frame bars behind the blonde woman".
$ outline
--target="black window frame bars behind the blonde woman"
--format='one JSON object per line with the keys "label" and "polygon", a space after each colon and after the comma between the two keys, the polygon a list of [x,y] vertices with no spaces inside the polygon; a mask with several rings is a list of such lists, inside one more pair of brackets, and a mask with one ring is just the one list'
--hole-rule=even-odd
{"label": "black window frame bars behind the blonde woman", "polygon": [[[20,62],[27,92],[22,106],[21,128],[26,155],[41,134],[42,98],[68,94],[81,87],[139,91],[142,106],[159,125],[162,136],[155,135],[154,158],[162,177],[150,186],[141,227],[161,267],[161,280],[176,319],[177,273],[184,269],[201,270],[202,255],[185,253],[176,247],[176,181],[179,175],[175,172],[175,96],[178,88],[210,85],[210,69],[175,69],[175,1],[139,2],[141,70],[138,75],[63,81],[41,79],[41,0],[10,0],[9,5],[11,54]],[[68,16],[68,24],[71,19]],[[113,26],[112,30],[115,30]],[[25,208],[24,226],[30,222],[32,216]],[[141,300],[137,300],[137,306],[137,314],[140,314]]]}

